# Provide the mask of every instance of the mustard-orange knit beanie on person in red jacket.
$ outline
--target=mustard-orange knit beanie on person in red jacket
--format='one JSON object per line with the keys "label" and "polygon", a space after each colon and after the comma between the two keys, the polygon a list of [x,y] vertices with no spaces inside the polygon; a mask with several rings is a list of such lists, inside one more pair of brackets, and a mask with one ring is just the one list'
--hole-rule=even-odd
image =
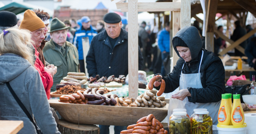
{"label": "mustard-orange knit beanie on person in red jacket", "polygon": [[43,21],[36,16],[36,13],[31,10],[26,10],[24,18],[21,21],[20,29],[28,29],[34,31],[44,27]]}

